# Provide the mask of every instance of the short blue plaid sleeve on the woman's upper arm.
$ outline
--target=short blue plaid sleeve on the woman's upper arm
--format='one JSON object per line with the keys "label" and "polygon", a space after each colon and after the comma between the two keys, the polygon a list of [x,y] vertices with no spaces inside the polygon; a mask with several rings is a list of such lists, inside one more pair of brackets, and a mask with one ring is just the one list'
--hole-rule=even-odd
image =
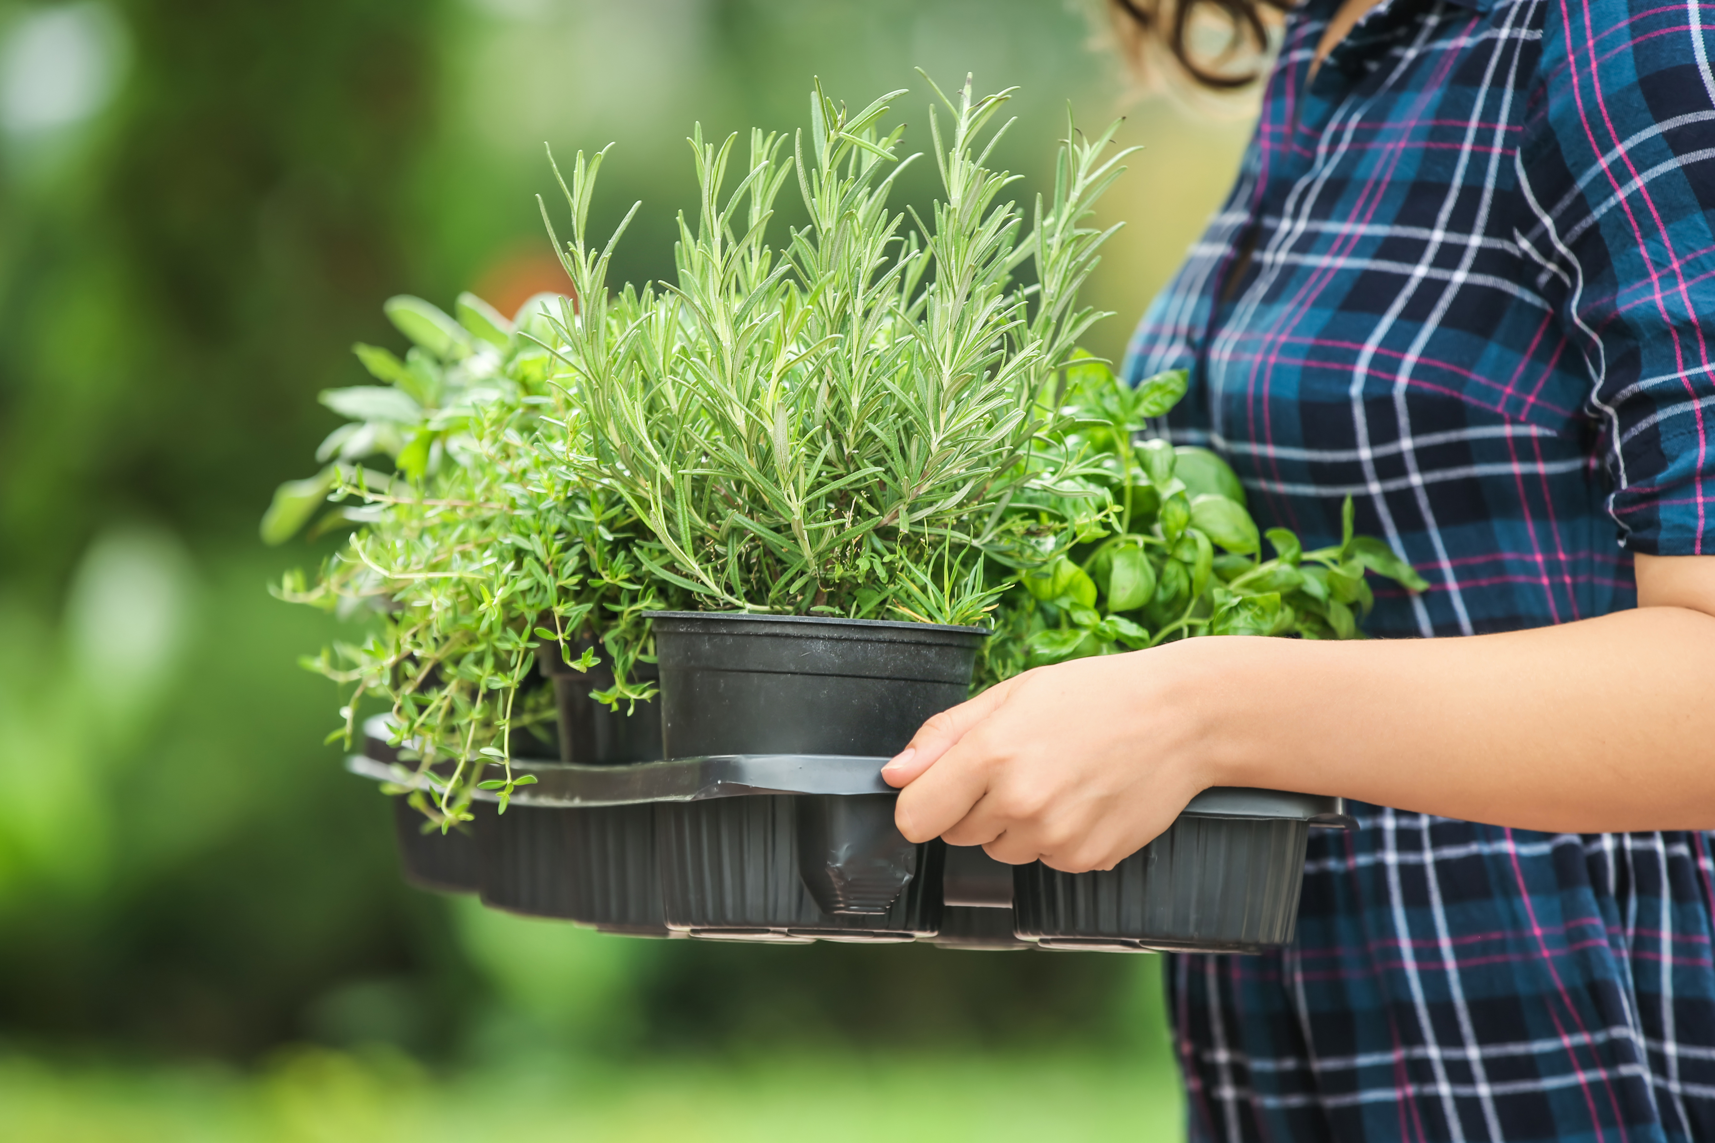
{"label": "short blue plaid sleeve on the woman's upper arm", "polygon": [[1715,12],[1540,2],[1518,238],[1590,370],[1621,543],[1715,554]]}

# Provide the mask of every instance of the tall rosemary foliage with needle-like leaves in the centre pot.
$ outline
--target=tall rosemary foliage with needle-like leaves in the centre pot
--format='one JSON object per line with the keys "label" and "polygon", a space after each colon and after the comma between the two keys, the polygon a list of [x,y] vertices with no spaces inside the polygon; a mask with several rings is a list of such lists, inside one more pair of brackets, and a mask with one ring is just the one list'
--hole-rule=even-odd
{"label": "tall rosemary foliage with needle-like leaves in the centre pot", "polygon": [[[559,305],[556,351],[588,430],[569,468],[624,502],[648,530],[638,559],[700,607],[976,622],[1002,589],[983,552],[1003,547],[1008,504],[1062,475],[1038,446],[1101,317],[1077,293],[1113,230],[1086,223],[1128,151],[1108,154],[1116,125],[1086,139],[1068,122],[1026,224],[1014,177],[986,165],[1010,89],[974,98],[967,79],[957,101],[936,87],[945,127],[930,113],[942,199],[900,212],[916,156],[883,130],[900,94],[851,113],[818,86],[791,154],[753,132],[731,192],[737,137],[698,129],[696,218],[659,288],[607,288],[624,223],[592,245],[602,154],[561,182],[571,236],[554,242],[580,305]],[[782,235],[789,182],[809,223]]]}

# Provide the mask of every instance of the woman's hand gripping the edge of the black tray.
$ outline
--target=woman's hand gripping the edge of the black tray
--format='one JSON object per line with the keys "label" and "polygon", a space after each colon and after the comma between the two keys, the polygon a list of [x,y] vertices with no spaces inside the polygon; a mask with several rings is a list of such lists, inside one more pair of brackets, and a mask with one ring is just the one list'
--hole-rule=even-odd
{"label": "woman's hand gripping the edge of the black tray", "polygon": [[1230,689],[1206,667],[1247,643],[1039,667],[936,715],[882,769],[906,787],[900,833],[981,845],[1012,865],[1111,869],[1216,785],[1211,730]]}

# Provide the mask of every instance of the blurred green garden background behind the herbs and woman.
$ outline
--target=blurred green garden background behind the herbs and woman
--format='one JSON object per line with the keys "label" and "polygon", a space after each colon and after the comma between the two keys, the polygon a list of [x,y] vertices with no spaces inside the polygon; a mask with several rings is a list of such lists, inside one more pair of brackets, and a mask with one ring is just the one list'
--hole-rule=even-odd
{"label": "blurred green garden background behind the herbs and woman", "polygon": [[[19,1140],[1173,1138],[1154,958],[648,943],[406,889],[322,737],[329,622],[266,584],[276,483],[401,348],[391,293],[557,283],[542,156],[609,141],[617,278],[671,262],[693,120],[813,75],[928,146],[1022,84],[1147,149],[1094,283],[1132,320],[1247,127],[1128,99],[1062,0],[0,0],[0,1107]],[[931,194],[928,163],[906,195]]]}

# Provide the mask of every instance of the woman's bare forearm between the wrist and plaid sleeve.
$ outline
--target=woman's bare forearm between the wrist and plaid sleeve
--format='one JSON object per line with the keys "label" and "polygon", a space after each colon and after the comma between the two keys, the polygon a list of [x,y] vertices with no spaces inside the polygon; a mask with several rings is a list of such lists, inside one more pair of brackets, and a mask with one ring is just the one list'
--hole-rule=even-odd
{"label": "woman's bare forearm between the wrist and plaid sleeve", "polygon": [[1213,785],[1549,831],[1715,828],[1703,610],[1466,639],[1254,643],[1206,656],[1209,709],[1223,713]]}

